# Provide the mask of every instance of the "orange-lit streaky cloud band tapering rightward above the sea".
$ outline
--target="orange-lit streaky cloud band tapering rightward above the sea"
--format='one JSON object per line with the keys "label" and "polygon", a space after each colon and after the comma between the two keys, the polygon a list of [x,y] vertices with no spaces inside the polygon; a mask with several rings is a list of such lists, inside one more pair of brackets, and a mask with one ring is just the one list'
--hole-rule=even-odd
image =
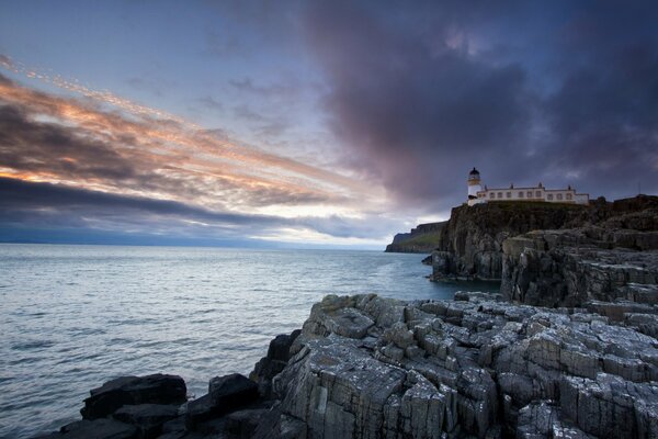
{"label": "orange-lit streaky cloud band tapering rightward above the sea", "polygon": [[124,116],[101,104],[102,98],[89,103],[0,83],[1,172],[242,212],[340,203],[363,190],[358,181],[232,144],[216,131],[146,116],[144,108]]}

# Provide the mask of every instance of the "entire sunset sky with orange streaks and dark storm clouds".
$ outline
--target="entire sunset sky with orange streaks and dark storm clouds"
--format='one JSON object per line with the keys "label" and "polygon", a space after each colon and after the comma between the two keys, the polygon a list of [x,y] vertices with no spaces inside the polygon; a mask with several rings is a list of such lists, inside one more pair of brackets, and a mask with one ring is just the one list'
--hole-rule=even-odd
{"label": "entire sunset sky with orange streaks and dark storm clouds", "polygon": [[658,192],[653,1],[0,2],[0,241],[383,248]]}

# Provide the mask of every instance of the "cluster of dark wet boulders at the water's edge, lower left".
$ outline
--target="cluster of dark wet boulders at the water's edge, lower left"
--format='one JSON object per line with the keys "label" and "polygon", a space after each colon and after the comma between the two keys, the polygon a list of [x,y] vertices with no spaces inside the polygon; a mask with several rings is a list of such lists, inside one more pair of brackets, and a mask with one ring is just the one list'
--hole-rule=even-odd
{"label": "cluster of dark wet boulders at the water's edge, lower left", "polygon": [[272,412],[271,383],[291,358],[299,330],[277,336],[252,372],[215,376],[208,393],[186,402],[175,375],[122,376],[91,391],[83,420],[39,437],[55,439],[249,438]]}

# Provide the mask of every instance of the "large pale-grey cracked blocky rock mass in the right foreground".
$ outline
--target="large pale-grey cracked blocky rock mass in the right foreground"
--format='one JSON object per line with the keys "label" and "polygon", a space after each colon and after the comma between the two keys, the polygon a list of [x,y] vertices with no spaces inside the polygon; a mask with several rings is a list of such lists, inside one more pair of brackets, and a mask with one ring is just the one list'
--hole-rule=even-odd
{"label": "large pale-grey cracked blocky rock mass in the right foreground", "polygon": [[[273,379],[269,431],[284,437],[292,423],[293,438],[656,437],[656,339],[586,308],[456,296],[314,306]],[[327,331],[340,306],[374,322],[374,340]]]}

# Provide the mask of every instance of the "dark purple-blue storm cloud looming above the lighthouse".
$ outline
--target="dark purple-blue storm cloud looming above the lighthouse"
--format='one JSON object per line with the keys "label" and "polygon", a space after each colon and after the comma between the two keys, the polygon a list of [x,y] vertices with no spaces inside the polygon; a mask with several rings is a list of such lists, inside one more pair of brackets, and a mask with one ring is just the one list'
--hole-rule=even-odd
{"label": "dark purple-blue storm cloud looming above the lighthouse", "polygon": [[[656,3],[317,2],[304,32],[347,161],[405,204],[490,185],[658,190]],[[635,184],[633,185],[635,187]]]}

